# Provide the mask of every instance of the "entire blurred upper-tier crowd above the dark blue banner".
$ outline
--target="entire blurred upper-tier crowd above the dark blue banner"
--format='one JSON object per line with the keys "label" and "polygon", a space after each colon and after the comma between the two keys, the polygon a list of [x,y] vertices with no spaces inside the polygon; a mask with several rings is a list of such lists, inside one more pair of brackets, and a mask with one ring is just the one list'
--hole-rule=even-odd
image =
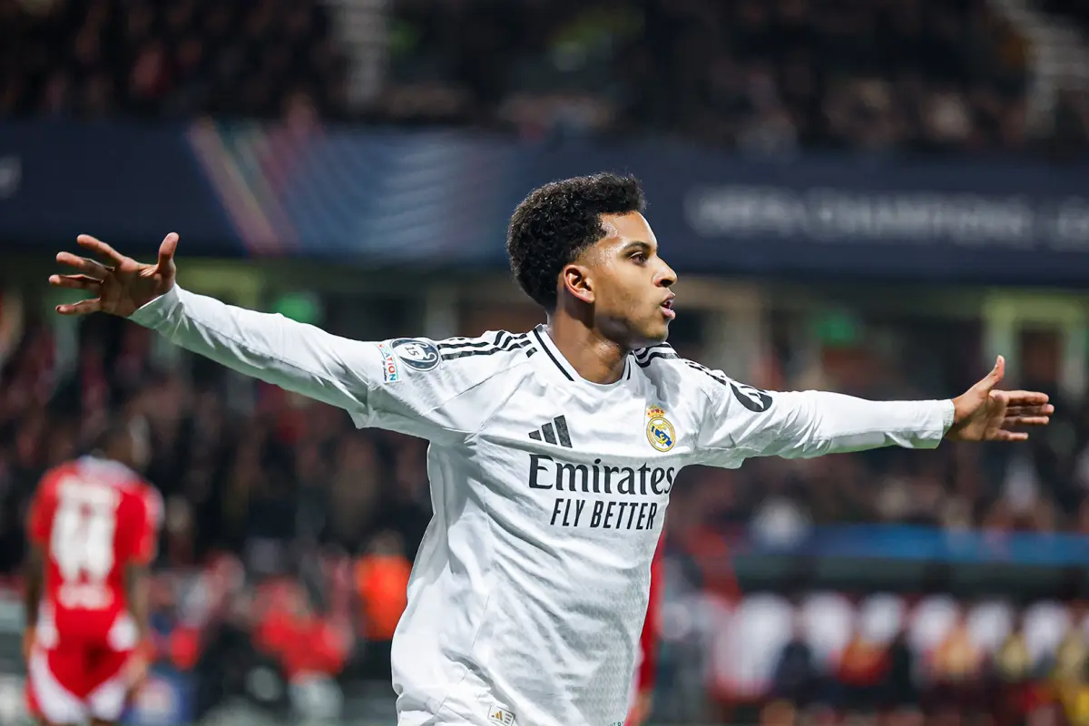
{"label": "entire blurred upper-tier crowd above the dark blue banner", "polygon": [[652,135],[788,153],[1057,149],[1027,119],[1027,47],[984,0],[396,0],[382,93],[347,100],[320,2],[2,0],[0,115],[323,118],[526,138]]}

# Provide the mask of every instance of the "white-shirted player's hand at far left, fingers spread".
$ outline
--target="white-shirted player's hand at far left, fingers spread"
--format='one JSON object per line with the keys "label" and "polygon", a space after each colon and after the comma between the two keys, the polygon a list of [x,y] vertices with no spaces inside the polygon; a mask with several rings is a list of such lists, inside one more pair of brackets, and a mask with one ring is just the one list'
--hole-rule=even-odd
{"label": "white-shirted player's hand at far left, fingers spread", "polygon": [[174,286],[178,235],[173,232],[159,246],[159,260],[155,264],[144,264],[125,257],[89,234],[81,234],[76,242],[109,260],[109,263],[69,253],[57,256],[58,262],[79,270],[81,274],[54,274],[49,278],[49,284],[85,290],[93,295],[72,305],[58,305],[57,311],[61,315],[109,312],[126,318]]}

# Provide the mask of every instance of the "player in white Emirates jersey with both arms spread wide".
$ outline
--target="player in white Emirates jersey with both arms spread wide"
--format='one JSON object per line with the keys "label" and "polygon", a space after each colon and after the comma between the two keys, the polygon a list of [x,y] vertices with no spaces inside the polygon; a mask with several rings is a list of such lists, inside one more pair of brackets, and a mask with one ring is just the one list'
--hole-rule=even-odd
{"label": "player in white Emirates jersey with both arms spread wide", "polygon": [[533,193],[507,234],[547,322],[523,333],[360,342],[175,284],[178,235],[140,264],[94,237],[54,285],[61,315],[125,316],[236,371],[430,441],[435,515],[393,641],[399,724],[620,726],[650,563],[685,466],[818,456],[943,438],[1018,441],[1043,394],[872,402],[760,391],[676,355],[673,270],[643,192],[613,174]]}

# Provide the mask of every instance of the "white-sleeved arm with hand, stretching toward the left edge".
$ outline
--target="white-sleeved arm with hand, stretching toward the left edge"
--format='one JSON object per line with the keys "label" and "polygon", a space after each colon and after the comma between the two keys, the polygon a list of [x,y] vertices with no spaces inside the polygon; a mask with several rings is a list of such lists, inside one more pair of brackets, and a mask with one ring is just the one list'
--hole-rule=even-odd
{"label": "white-sleeved arm with hand, stretching toward the left edge", "polygon": [[457,343],[352,341],[280,315],[186,292],[174,282],[173,233],[162,241],[155,264],[142,264],[88,235],[77,241],[108,263],[68,253],[57,256],[79,274],[54,274],[49,282],[91,295],[58,306],[61,315],[126,317],[228,368],[343,408],[359,427],[458,441],[476,430],[486,413],[478,401],[462,394],[492,369],[442,365],[460,357],[449,352],[463,347]]}

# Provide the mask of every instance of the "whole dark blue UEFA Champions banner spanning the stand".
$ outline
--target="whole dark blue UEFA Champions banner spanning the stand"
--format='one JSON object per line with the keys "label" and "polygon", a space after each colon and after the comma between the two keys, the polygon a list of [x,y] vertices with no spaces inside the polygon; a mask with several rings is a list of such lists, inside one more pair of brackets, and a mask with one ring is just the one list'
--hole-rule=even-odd
{"label": "whole dark blue UEFA Champions banner spanning the stand", "polygon": [[501,268],[533,186],[637,174],[682,271],[1078,284],[1089,170],[1015,161],[522,145],[452,132],[0,124],[0,239]]}

